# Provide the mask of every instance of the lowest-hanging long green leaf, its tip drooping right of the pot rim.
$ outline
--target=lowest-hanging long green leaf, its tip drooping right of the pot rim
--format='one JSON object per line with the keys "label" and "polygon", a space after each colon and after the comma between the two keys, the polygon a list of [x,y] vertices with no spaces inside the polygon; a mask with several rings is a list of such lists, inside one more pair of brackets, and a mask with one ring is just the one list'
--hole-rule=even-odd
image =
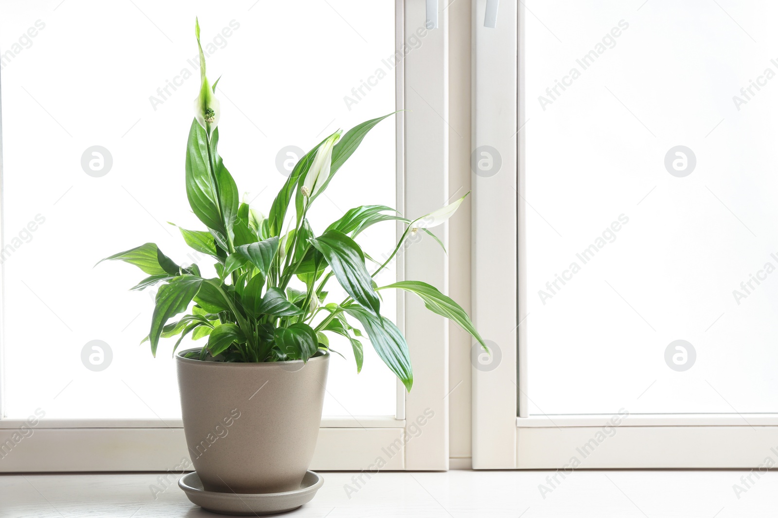
{"label": "lowest-hanging long green leaf, its tip drooping right of the pot rim", "polygon": [[400,378],[408,391],[413,386],[413,370],[408,344],[400,330],[387,318],[379,319],[376,315],[359,306],[349,304],[345,311],[359,320],[373,344],[373,349],[387,364],[394,374]]}

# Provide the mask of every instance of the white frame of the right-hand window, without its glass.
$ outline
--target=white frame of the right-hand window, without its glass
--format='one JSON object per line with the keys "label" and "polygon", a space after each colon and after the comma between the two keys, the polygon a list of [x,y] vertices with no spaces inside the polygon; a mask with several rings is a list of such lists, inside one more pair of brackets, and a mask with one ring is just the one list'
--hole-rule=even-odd
{"label": "white frame of the right-hand window, without its glass", "polygon": [[[524,29],[522,2],[500,2],[496,27],[487,4],[473,5],[473,149],[502,158],[492,177],[473,177],[472,293],[475,325],[499,345],[493,370],[473,368],[475,469],[566,469],[576,447],[611,415],[527,415],[524,190]],[[531,16],[531,15],[529,15]],[[522,95],[519,95],[522,94]],[[493,366],[492,366],[493,367]],[[772,455],[778,414],[629,415],[579,468],[757,468]]]}

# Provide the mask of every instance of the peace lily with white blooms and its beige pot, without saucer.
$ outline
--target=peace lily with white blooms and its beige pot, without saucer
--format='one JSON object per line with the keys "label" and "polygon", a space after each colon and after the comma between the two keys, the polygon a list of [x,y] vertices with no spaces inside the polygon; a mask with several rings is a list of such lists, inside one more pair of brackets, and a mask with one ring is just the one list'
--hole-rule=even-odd
{"label": "peace lily with white blooms and its beige pot, without saucer", "polygon": [[[187,245],[212,259],[218,276],[202,276],[196,264],[180,266],[154,243],[103,260],[129,262],[148,275],[132,290],[161,284],[144,339],[152,354],[161,338],[178,336],[173,353],[184,337],[205,340],[202,347],[175,356],[184,431],[205,490],[292,491],[300,488],[314,454],[330,360],[328,336],[349,340],[357,371],[363,340],[369,339],[411,390],[408,346],[397,326],[380,314],[381,290],[418,295],[426,308],[457,322],[483,345],[459,304],[435,287],[413,280],[379,287],[373,281],[406,238],[419,231],[434,238],[429,228],[447,221],[464,196],[414,220],[383,205],[352,208],[324,228],[308,220],[310,207],[338,169],[389,114],[316,144],[297,162],[267,217],[240,203],[218,151],[219,100],[216,82],[211,85],[205,75],[199,32],[196,24],[201,89],[187,139],[185,183],[191,209],[207,230],[180,228],[180,233]],[[401,221],[405,232],[371,273],[370,258],[355,238],[383,221]],[[333,280],[348,294],[337,303],[327,298]],[[221,437],[221,429],[229,431],[227,438],[210,440]]]}

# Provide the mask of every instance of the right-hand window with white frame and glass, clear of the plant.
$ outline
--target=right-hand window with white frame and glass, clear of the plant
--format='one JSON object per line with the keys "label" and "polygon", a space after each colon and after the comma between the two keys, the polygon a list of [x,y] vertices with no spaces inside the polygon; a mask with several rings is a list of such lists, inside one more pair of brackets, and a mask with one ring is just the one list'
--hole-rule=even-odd
{"label": "right-hand window with white frame and glass, clear of the plant", "polygon": [[475,371],[474,465],[562,468],[609,424],[584,467],[759,464],[778,424],[778,68],[755,50],[773,8],[500,5],[489,28],[486,3],[475,145],[502,166],[476,171],[476,315],[501,356]]}

